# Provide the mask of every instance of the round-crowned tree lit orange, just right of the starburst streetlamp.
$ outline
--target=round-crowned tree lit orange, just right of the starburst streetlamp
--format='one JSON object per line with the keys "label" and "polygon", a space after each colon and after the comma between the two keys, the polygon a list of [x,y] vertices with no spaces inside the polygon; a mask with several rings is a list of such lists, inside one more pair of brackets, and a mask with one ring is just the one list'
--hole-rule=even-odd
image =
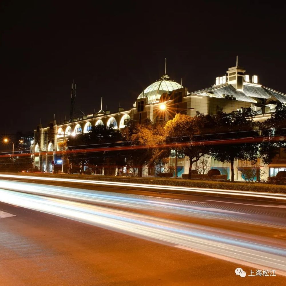
{"label": "round-crowned tree lit orange, just right of the starburst streetlamp", "polygon": [[190,158],[188,178],[191,178],[192,166],[202,156],[209,153],[209,146],[201,143],[207,139],[205,134],[210,132],[210,116],[196,112],[194,117],[185,114],[176,114],[165,126],[166,142],[185,143],[182,147],[176,147],[179,156],[184,154]]}

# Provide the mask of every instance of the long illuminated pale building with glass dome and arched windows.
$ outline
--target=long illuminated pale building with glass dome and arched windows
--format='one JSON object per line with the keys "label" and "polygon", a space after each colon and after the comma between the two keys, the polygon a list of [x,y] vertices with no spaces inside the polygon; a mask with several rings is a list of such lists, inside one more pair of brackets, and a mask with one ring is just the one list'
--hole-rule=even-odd
{"label": "long illuminated pale building with glass dome and arched windows", "polygon": [[[255,120],[266,120],[275,111],[277,103],[286,102],[286,95],[261,85],[257,75],[250,76],[245,72],[245,69],[238,65],[231,67],[224,75],[215,78],[213,86],[194,92],[188,92],[186,87],[170,80],[170,77],[164,74],[160,80],[150,84],[138,95],[129,110],[118,108],[118,111],[113,113],[100,110],[97,113],[65,121],[63,124],[57,124],[55,120],[46,127],[39,124],[35,130],[32,146],[34,167],[41,171],[52,172],[52,163],[62,164],[56,156],[59,151],[58,143],[65,141],[68,136],[89,132],[98,124],[107,126],[111,124],[113,128],[120,130],[129,120],[141,123],[149,119],[156,123],[168,121],[177,113],[188,116],[195,116],[196,111],[215,114],[217,106],[223,108],[226,113],[251,107],[257,112]],[[173,159],[170,158],[171,164]],[[230,177],[230,164],[217,162],[212,158],[208,160],[211,168],[217,168],[221,174]],[[188,164],[187,157],[178,159],[178,176],[188,173]],[[240,164],[239,161],[235,162],[235,170]],[[281,150],[281,154],[273,160],[273,164],[263,166],[261,163],[261,167],[266,169],[265,178],[275,175],[278,170],[286,170],[286,154]],[[235,180],[243,180],[238,171],[235,173]]]}

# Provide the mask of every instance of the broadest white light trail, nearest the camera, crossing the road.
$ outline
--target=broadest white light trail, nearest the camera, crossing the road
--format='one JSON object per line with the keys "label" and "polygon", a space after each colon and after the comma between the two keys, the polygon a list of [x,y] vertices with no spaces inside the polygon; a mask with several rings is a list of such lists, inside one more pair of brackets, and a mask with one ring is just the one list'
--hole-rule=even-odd
{"label": "broadest white light trail, nearest the camera, crossing the road", "polygon": [[242,235],[231,231],[221,233],[210,227],[11,190],[0,189],[0,198],[8,204],[180,248],[203,251],[225,260],[235,258],[240,265],[259,265],[260,269],[275,269],[277,274],[286,276],[286,249],[255,243],[254,236],[252,239],[250,235],[241,238]]}

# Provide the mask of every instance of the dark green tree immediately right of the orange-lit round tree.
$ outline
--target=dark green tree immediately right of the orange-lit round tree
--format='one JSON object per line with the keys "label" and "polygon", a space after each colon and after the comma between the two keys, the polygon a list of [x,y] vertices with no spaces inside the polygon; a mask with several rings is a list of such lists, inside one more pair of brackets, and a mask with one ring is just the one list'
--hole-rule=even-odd
{"label": "dark green tree immediately right of the orange-lit round tree", "polygon": [[[259,123],[252,118],[255,112],[251,108],[241,108],[241,112],[226,114],[217,109],[212,116],[214,134],[212,140],[232,140],[233,143],[212,145],[210,153],[213,158],[221,162],[231,163],[231,181],[234,181],[234,160],[257,161],[259,158],[259,142],[253,143],[254,137],[259,137]],[[243,138],[244,142],[237,139]],[[244,139],[246,138],[246,139]]]}

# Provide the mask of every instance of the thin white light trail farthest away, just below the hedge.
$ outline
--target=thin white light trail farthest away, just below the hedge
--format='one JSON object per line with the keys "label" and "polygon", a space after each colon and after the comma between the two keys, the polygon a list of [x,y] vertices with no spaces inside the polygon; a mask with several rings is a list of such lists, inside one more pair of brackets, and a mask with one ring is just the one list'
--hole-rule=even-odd
{"label": "thin white light trail farthest away, just below the hedge", "polygon": [[46,180],[51,182],[67,182],[67,183],[80,183],[98,186],[119,186],[119,187],[132,187],[146,190],[152,190],[154,192],[187,192],[203,195],[219,194],[219,195],[231,195],[239,197],[249,197],[252,199],[275,199],[282,202],[286,202],[286,194],[279,193],[266,193],[266,192],[251,192],[251,191],[237,191],[237,190],[223,190],[223,189],[210,189],[210,188],[195,188],[195,187],[180,187],[180,186],[165,186],[165,185],[152,185],[152,184],[139,184],[139,183],[126,183],[126,182],[108,182],[97,180],[80,180],[80,179],[67,179],[67,178],[53,178],[53,177],[38,177],[38,176],[21,176],[21,175],[9,175],[0,174],[0,178],[15,178],[32,180]]}

